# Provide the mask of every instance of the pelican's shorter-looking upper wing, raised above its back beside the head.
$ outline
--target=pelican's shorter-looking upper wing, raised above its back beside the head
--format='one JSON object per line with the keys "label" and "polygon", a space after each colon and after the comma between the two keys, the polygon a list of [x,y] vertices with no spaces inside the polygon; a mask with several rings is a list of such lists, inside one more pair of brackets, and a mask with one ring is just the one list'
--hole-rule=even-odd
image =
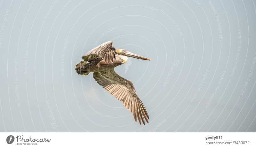
{"label": "pelican's shorter-looking upper wing, raised above its back beside the head", "polygon": [[114,46],[112,46],[112,44],[112,41],[108,41],[93,48],[91,51],[87,52],[86,54],[84,54],[84,56],[82,56],[83,60],[86,62],[102,58],[105,62],[112,63],[113,59],[116,59],[116,49],[114,48]]}

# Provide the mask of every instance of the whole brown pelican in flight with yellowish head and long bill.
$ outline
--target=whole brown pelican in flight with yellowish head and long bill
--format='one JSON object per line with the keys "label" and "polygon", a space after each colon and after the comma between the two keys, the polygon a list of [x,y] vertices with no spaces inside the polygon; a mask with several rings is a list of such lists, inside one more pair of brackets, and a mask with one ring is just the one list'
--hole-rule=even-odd
{"label": "whole brown pelican in flight with yellowish head and long bill", "polygon": [[112,41],[105,42],[84,54],[84,61],[76,64],[76,72],[79,75],[93,72],[97,83],[123,102],[124,107],[133,114],[135,122],[138,119],[140,125],[141,122],[145,125],[144,119],[148,122],[149,116],[132,82],[116,74],[114,68],[124,64],[128,60],[127,56],[149,61],[150,59],[124,49],[115,49],[112,44]]}

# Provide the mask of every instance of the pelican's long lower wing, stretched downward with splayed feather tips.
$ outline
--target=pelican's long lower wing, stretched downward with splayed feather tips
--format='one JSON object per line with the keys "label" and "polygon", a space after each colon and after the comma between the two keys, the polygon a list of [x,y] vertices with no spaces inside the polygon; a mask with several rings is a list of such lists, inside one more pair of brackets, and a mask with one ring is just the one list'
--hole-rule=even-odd
{"label": "pelican's long lower wing, stretched downward with splayed feather tips", "polygon": [[93,78],[104,89],[116,97],[116,99],[123,102],[126,107],[134,116],[135,122],[137,118],[145,125],[144,119],[148,122],[148,113],[141,102],[139,96],[135,92],[134,86],[131,81],[116,74],[114,69],[108,71],[94,72]]}

